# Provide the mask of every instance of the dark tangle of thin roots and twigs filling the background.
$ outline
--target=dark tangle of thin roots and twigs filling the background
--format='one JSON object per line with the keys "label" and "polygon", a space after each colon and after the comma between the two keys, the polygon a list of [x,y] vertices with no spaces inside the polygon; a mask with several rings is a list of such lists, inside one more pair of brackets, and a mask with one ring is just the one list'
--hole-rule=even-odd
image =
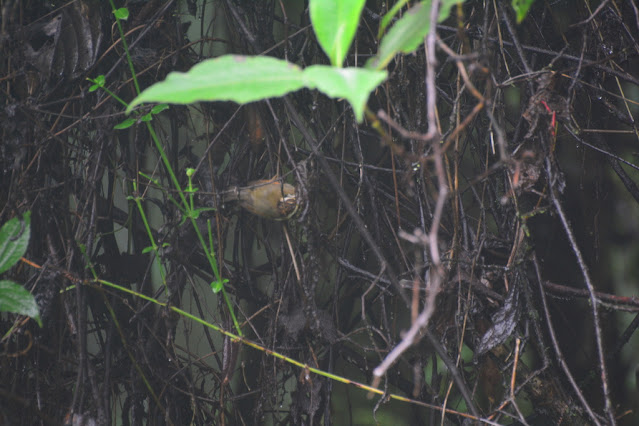
{"label": "dark tangle of thin roots and twigs filling the background", "polygon": [[[130,10],[123,26],[142,88],[223,53],[267,52],[302,67],[327,62],[303,2],[117,6]],[[377,51],[388,6],[367,2],[348,66]],[[35,295],[44,328],[0,316],[3,335],[18,325],[2,340],[0,423],[439,424],[436,407],[445,406],[499,424],[636,424],[639,12],[630,1],[597,6],[537,0],[519,25],[507,2],[453,8],[437,29],[458,55],[437,51],[439,154],[398,130],[428,131],[423,46],[395,58],[369,100],[395,129],[358,124],[346,102],[316,92],[289,95],[339,188],[282,99],[172,106],[154,119],[183,183],[185,168],[204,158],[197,203],[218,208],[202,229],[210,219],[247,337],[362,383],[371,383],[411,324],[411,307],[389,274],[423,309],[430,251],[398,231],[429,232],[438,187],[449,188],[437,229],[444,275],[429,334],[382,380],[386,392],[413,401],[388,402],[139,297],[74,285],[91,282],[90,264],[100,278],[233,329],[208,288],[213,277],[195,235],[169,201],[173,188],[146,128],[114,130],[124,107],[103,90],[88,91],[86,78],[103,74],[111,92],[135,97],[108,3],[4,1],[0,221],[32,211],[26,257],[43,268],[9,275]],[[444,174],[435,170],[436,155]],[[274,175],[303,194],[303,208],[285,224],[290,243],[282,223],[218,204],[230,187]],[[159,259],[143,252],[148,235],[126,200],[133,182],[156,240],[168,244]],[[337,191],[357,209],[388,268]],[[586,273],[599,292],[597,326]],[[443,359],[457,366],[457,380]],[[445,415],[446,424],[462,422]]]}

